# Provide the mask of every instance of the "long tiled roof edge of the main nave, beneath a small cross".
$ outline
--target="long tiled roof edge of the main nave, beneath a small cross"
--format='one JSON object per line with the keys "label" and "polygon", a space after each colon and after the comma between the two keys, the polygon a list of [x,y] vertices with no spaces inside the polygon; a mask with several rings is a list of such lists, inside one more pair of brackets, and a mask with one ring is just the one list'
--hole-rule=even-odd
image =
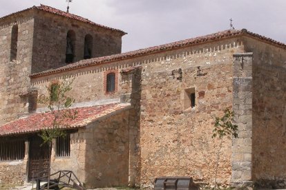
{"label": "long tiled roof edge of the main nave, beneath a small cross", "polygon": [[278,41],[274,41],[273,39],[269,39],[265,36],[261,36],[259,34],[255,34],[253,32],[249,32],[246,29],[225,30],[222,32],[216,32],[213,34],[209,34],[206,36],[199,36],[199,37],[196,37],[193,39],[185,39],[182,41],[175,41],[173,43],[166,43],[164,45],[147,47],[145,49],[135,50],[135,51],[131,51],[131,52],[125,52],[122,54],[113,54],[111,56],[102,56],[102,57],[93,58],[93,59],[85,59],[82,61],[78,61],[77,63],[66,65],[64,67],[59,67],[59,68],[54,69],[54,70],[46,70],[44,72],[31,74],[30,77],[33,78],[33,77],[37,77],[37,76],[44,76],[44,75],[64,72],[64,71],[68,71],[68,70],[77,70],[78,68],[81,68],[81,67],[88,67],[88,66],[93,66],[93,65],[97,65],[97,64],[108,63],[111,61],[131,59],[135,56],[143,56],[145,54],[158,53],[158,52],[162,52],[162,51],[166,51],[166,50],[177,49],[180,47],[187,47],[189,45],[207,43],[210,41],[216,41],[216,40],[220,40],[220,39],[228,39],[231,37],[242,36],[242,35],[246,35],[246,36],[252,37],[254,39],[260,39],[260,40],[264,41],[265,43],[271,43],[273,45],[278,45],[280,47],[286,48],[285,43],[280,43]]}

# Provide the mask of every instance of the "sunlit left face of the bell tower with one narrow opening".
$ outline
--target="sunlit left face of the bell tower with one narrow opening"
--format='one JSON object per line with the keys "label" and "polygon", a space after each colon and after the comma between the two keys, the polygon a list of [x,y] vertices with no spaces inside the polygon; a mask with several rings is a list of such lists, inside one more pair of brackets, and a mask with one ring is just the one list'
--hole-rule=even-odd
{"label": "sunlit left face of the bell tower with one narrow opening", "polygon": [[[10,61],[12,27],[18,25],[17,58]],[[19,94],[30,87],[34,19],[31,12],[0,21],[0,125],[28,112]]]}

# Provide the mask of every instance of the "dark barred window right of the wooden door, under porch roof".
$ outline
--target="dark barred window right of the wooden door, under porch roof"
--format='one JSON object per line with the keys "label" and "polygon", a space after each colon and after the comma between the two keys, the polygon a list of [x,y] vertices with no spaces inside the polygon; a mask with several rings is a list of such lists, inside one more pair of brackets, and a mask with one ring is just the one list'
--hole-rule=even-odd
{"label": "dark barred window right of the wooden door, under porch roof", "polygon": [[57,156],[70,156],[70,134],[57,138]]}

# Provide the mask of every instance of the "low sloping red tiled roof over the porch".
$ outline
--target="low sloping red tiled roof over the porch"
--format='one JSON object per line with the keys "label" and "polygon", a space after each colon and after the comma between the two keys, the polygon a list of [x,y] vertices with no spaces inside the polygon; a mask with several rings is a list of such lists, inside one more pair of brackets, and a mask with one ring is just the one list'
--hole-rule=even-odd
{"label": "low sloping red tiled roof over the porch", "polygon": [[[93,123],[95,120],[104,116],[109,116],[117,111],[129,109],[128,103],[113,103],[108,105],[97,105],[92,107],[79,107],[70,109],[74,112],[77,110],[77,118],[63,122],[66,126],[62,129],[79,128]],[[50,113],[32,114],[26,118],[20,118],[0,127],[0,136],[8,136],[12,134],[27,134],[41,131],[51,125],[54,115]]]}

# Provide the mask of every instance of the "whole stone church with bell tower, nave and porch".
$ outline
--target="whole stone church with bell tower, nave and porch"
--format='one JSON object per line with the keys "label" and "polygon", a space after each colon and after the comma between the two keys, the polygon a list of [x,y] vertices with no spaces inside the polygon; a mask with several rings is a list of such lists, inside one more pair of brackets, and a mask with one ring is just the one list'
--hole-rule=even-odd
{"label": "whole stone church with bell tower, nave and porch", "polygon": [[[126,32],[49,6],[0,18],[0,183],[73,170],[86,187],[153,187],[160,176],[215,180],[215,116],[236,115],[222,141],[220,185],[286,187],[286,45],[245,29],[132,52]],[[51,156],[37,100],[72,81],[77,118]]]}

